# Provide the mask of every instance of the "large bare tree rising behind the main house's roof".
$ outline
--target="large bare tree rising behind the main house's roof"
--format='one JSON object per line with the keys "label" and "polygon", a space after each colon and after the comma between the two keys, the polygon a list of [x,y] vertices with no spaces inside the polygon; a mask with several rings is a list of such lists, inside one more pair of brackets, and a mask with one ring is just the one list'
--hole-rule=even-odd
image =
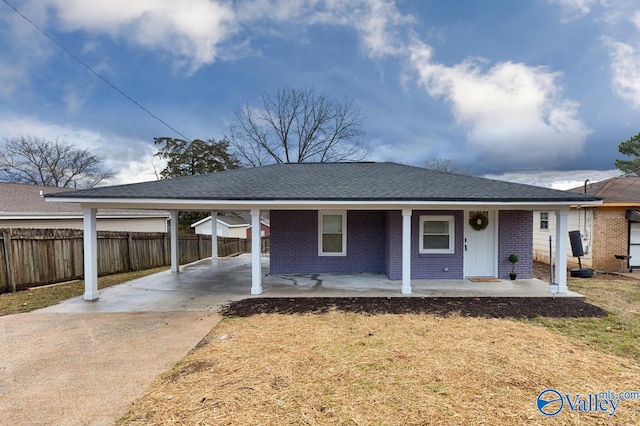
{"label": "large bare tree rising behind the main house's roof", "polygon": [[261,105],[234,112],[229,136],[236,156],[249,166],[363,159],[364,118],[349,100],[340,103],[313,89],[263,93]]}

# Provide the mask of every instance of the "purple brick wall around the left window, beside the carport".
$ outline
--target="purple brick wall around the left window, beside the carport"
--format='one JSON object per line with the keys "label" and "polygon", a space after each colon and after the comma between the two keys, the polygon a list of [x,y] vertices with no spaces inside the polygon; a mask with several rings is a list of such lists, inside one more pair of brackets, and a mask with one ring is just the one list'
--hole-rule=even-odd
{"label": "purple brick wall around the left window, beside the carport", "polygon": [[318,256],[318,212],[271,211],[272,274],[385,270],[384,211],[347,212],[347,255]]}

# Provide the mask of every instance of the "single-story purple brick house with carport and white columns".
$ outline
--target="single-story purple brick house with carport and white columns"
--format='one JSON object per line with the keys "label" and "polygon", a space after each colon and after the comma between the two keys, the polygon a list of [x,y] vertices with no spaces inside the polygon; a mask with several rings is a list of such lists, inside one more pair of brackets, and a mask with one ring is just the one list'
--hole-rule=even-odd
{"label": "single-story purple brick house with carport and white columns", "polygon": [[[533,267],[533,212],[553,211],[566,235],[571,206],[599,205],[591,195],[395,163],[295,163],[185,176],[54,194],[80,203],[85,236],[95,208],[247,211],[252,228],[252,294],[262,292],[261,211],[270,212],[271,274],[384,273],[402,280],[507,279],[518,254],[519,278]],[[172,224],[175,221],[172,221]],[[172,271],[178,271],[177,226],[171,226]],[[97,298],[95,245],[85,241],[85,298]],[[566,252],[566,239],[556,242]],[[566,256],[556,282],[567,292]]]}

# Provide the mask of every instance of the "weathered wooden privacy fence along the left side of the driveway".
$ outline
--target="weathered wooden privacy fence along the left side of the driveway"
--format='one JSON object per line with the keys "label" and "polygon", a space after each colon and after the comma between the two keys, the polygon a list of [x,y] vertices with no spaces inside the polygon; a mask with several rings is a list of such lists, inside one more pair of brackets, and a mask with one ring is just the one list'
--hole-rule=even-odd
{"label": "weathered wooden privacy fence along the left side of the driveway", "polygon": [[[211,256],[211,236],[179,239],[180,264]],[[269,241],[263,241],[268,251]],[[251,241],[218,237],[218,255],[250,251]],[[83,232],[74,229],[0,229],[0,293],[83,277]],[[171,264],[169,234],[98,232],[98,274],[139,271]]]}

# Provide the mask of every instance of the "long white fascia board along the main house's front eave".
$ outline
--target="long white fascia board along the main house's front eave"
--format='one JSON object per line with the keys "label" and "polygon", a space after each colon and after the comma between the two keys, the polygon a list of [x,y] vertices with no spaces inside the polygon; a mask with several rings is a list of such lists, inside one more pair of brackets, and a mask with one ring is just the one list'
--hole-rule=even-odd
{"label": "long white fascia board along the main house's front eave", "polygon": [[83,207],[140,208],[154,210],[400,210],[400,209],[463,209],[482,207],[488,210],[558,210],[562,208],[598,206],[598,201],[544,201],[544,202],[482,202],[482,201],[322,201],[322,200],[177,200],[158,198],[54,198],[47,201],[80,203]]}

